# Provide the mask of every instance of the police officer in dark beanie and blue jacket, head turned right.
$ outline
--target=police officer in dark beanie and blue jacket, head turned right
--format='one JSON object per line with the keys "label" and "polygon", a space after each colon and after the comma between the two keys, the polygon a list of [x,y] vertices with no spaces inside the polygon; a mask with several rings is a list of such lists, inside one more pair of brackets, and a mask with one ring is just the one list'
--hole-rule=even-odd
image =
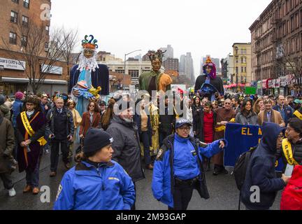
{"label": "police officer in dark beanie and blue jacket, head turned right", "polygon": [[136,197],[134,183],[111,160],[112,143],[103,130],[87,132],[82,161],[64,175],[55,210],[130,210]]}

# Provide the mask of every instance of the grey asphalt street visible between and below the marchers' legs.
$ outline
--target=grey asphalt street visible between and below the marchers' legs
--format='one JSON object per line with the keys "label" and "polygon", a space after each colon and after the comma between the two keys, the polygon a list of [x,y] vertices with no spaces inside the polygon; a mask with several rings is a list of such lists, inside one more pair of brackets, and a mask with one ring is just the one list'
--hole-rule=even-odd
{"label": "grey asphalt street visible between and below the marchers' legs", "polygon": [[[26,184],[24,173],[13,174],[15,181],[15,190],[17,195],[13,198],[8,197],[7,191],[0,188],[0,210],[50,210],[53,207],[57,195],[57,188],[62,176],[66,172],[63,162],[60,160],[58,175],[55,178],[50,178],[50,155],[43,155],[40,172],[40,185],[50,187],[50,203],[42,203],[39,195],[32,195],[31,193],[23,194],[22,190]],[[138,210],[166,210],[166,206],[157,202],[152,196],[151,181],[152,172],[145,171],[146,179],[136,183],[137,201],[136,209]],[[212,172],[207,172],[208,190],[210,192],[209,200],[201,200],[199,194],[194,191],[192,201],[189,204],[189,210],[236,210],[238,209],[239,192],[236,188],[233,176],[220,175],[213,176]],[[280,193],[275,200],[273,210],[280,209]],[[243,205],[241,206],[243,209]]]}

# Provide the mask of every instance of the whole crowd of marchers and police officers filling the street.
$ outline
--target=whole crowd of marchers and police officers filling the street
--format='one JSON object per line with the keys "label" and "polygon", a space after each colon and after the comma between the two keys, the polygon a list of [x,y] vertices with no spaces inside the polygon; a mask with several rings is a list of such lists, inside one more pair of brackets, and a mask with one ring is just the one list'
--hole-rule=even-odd
{"label": "whole crowd of marchers and police officers filling the street", "polygon": [[[90,102],[80,116],[68,94],[50,98],[47,94],[16,92],[13,102],[0,95],[0,177],[4,187],[11,197],[16,195],[10,174],[18,167],[19,172],[26,172],[23,193],[37,195],[43,153],[50,153],[50,176],[55,177],[61,149],[69,171],[59,187],[55,209],[135,209],[136,182],[145,178],[144,169],[154,169],[154,197],[169,209],[184,210],[194,189],[208,198],[203,179],[211,159],[213,175],[228,174],[223,165],[227,146],[224,131],[227,123],[240,123],[264,129],[259,144],[264,149],[254,155],[252,160],[256,161],[247,168],[243,203],[247,209],[269,209],[277,190],[289,182],[289,177],[278,179],[272,171],[276,155],[285,164],[290,161],[281,146],[285,134],[294,148],[295,164],[302,162],[301,97],[218,94],[211,102],[199,93],[184,96],[178,92],[172,99],[151,99],[144,94],[134,108],[131,102],[135,100],[122,94],[108,102]],[[75,146],[81,150],[75,155],[77,165],[71,169]],[[247,200],[248,187],[256,183],[263,187],[266,199],[260,205]]]}

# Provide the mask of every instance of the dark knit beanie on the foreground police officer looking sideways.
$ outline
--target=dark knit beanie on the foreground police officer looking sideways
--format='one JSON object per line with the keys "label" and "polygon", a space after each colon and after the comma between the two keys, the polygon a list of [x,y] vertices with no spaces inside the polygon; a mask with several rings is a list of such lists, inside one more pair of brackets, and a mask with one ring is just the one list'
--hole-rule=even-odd
{"label": "dark knit beanie on the foreground police officer looking sideways", "polygon": [[84,139],[84,153],[93,153],[113,143],[113,137],[103,130],[90,128]]}

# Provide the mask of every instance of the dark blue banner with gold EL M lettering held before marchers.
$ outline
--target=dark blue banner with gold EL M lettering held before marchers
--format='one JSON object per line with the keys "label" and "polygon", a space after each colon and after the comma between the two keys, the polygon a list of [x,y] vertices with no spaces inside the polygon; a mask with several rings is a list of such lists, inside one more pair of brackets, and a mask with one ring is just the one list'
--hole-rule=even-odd
{"label": "dark blue banner with gold EL M lettering held before marchers", "polygon": [[[262,137],[261,127],[257,125],[227,124],[225,139],[228,147],[224,150],[224,166],[234,167],[239,156],[257,146]],[[282,158],[276,162],[276,171],[282,172]]]}

